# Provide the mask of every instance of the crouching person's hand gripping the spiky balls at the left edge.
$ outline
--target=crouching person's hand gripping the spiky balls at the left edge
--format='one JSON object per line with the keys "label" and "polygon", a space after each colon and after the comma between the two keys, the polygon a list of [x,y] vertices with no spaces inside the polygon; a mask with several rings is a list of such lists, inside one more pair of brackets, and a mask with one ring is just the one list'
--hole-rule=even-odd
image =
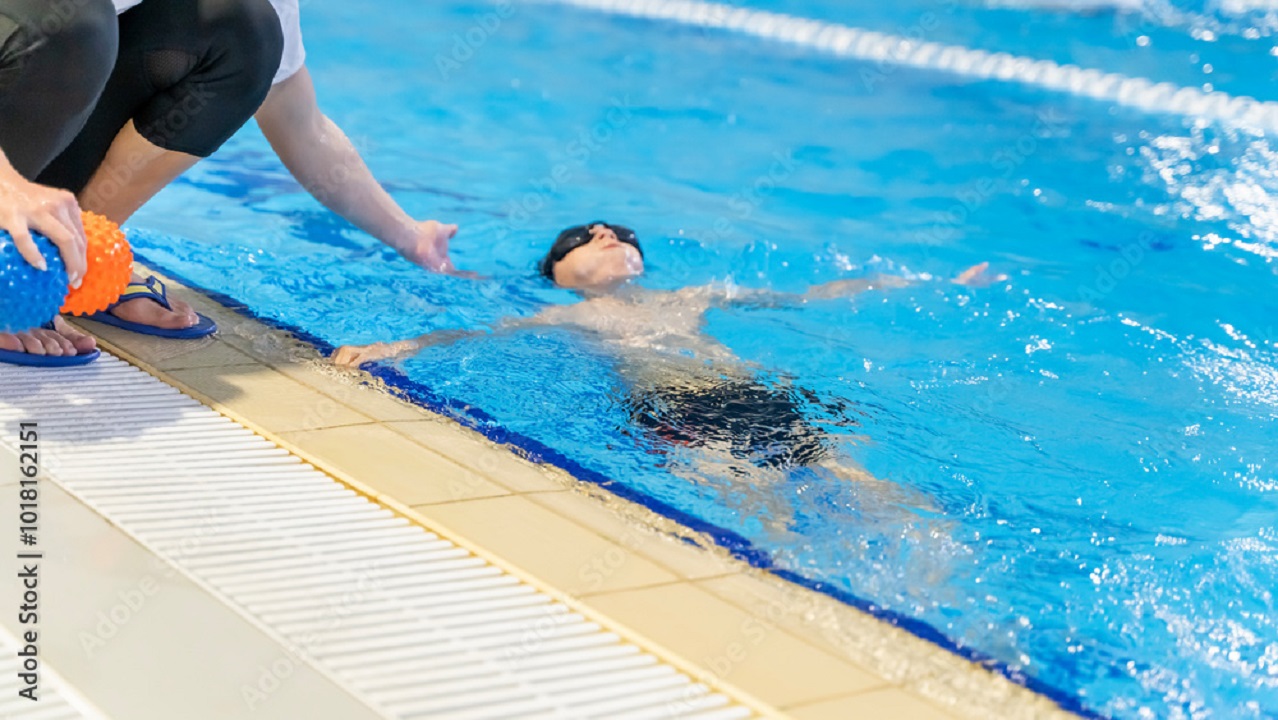
{"label": "crouching person's hand gripping the spiky balls at the left edge", "polygon": [[88,267],[84,258],[88,240],[74,194],[37,185],[6,162],[0,164],[0,230],[6,230],[18,253],[41,271],[49,270],[49,262],[32,240],[31,231],[49,238],[63,256],[72,286],[79,288]]}

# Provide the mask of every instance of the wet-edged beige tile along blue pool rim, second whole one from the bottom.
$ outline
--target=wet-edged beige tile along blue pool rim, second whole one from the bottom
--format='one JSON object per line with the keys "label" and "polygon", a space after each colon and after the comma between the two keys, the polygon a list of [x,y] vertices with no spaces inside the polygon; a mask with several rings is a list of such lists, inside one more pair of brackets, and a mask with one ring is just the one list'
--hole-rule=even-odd
{"label": "wet-edged beige tile along blue pool rim, second whole one from the bottom", "polygon": [[[647,508],[612,499],[611,503],[593,492],[547,492],[530,495],[530,500],[584,524],[608,540],[633,550],[685,579],[702,579],[740,573],[748,568],[717,547],[689,545],[662,526],[674,526]],[[644,515],[626,517],[626,512]],[[672,528],[667,528],[672,529]]]}

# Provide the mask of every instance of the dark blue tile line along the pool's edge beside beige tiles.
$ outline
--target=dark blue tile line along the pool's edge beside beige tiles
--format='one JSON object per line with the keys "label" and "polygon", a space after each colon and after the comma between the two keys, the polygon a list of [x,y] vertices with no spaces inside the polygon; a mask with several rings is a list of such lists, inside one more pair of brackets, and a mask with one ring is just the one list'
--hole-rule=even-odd
{"label": "dark blue tile line along the pool's edge beside beige tiles", "polygon": [[[178,280],[187,288],[198,290],[206,298],[221,304],[226,309],[230,309],[238,315],[261,322],[262,325],[266,325],[267,327],[271,327],[273,330],[286,333],[293,338],[314,347],[325,356],[331,356],[332,352],[336,349],[327,340],[317,338],[316,335],[312,335],[307,330],[295,327],[290,324],[271,317],[262,316],[257,313],[253,308],[250,308],[248,304],[233,298],[231,295],[216,290],[208,290],[201,286],[198,283],[193,283],[189,278],[173,271],[164,263],[152,262],[143,253],[139,253],[137,248],[134,248],[134,258],[138,262],[148,267],[153,267],[164,272],[165,275]],[[381,380],[389,389],[394,391],[392,394],[395,394],[396,396],[412,402],[415,405],[423,407],[433,413],[456,421],[458,423],[470,430],[474,430],[475,432],[479,432],[492,442],[511,448],[518,455],[528,459],[529,462],[543,463],[557,467],[564,472],[571,474],[576,480],[580,480],[583,482],[589,482],[603,490],[607,490],[608,492],[624,500],[635,503],[638,505],[643,505],[644,508],[659,515],[663,515],[670,520],[674,520],[691,529],[693,532],[709,536],[711,538],[713,538],[716,545],[727,550],[734,558],[744,563],[748,563],[750,567],[758,570],[763,570],[786,582],[797,584],[813,592],[818,592],[827,597],[835,599],[845,605],[850,605],[868,615],[872,615],[878,620],[888,623],[892,627],[900,628],[920,639],[924,639],[927,642],[930,642],[932,645],[941,647],[942,650],[957,655],[958,657],[967,660],[969,662],[973,662],[974,665],[982,669],[997,673],[998,675],[1002,675],[1010,682],[1051,700],[1062,710],[1066,710],[1081,717],[1109,720],[1109,716],[1099,714],[1095,710],[1086,707],[1082,700],[1076,694],[1061,689],[1053,684],[1039,680],[1031,675],[1028,675],[976,648],[966,647],[962,643],[951,638],[950,636],[944,634],[939,629],[934,628],[929,623],[925,623],[916,618],[902,615],[895,610],[879,607],[878,605],[875,605],[869,600],[852,595],[838,587],[833,587],[829,583],[812,579],[794,570],[778,568],[776,567],[776,564],[773,564],[771,555],[755,547],[753,542],[750,542],[741,535],[731,529],[708,523],[693,514],[689,514],[662,500],[658,500],[657,497],[652,497],[639,490],[635,490],[621,482],[617,482],[601,472],[593,471],[578,463],[576,460],[569,458],[567,455],[560,453],[558,450],[555,450],[553,448],[542,444],[538,440],[534,440],[532,437],[525,437],[518,432],[506,430],[497,422],[496,418],[489,416],[483,409],[465,403],[459,403],[456,400],[440,395],[433,390],[431,390],[429,387],[427,387],[426,385],[409,379],[400,370],[376,363],[366,363],[364,366],[360,367],[360,370],[364,370],[373,377]]]}

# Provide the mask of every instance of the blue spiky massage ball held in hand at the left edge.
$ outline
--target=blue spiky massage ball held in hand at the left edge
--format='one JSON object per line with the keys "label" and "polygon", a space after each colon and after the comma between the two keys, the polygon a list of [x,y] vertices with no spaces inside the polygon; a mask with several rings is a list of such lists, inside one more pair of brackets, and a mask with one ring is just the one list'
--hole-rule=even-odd
{"label": "blue spiky massage ball held in hand at the left edge", "polygon": [[58,315],[66,298],[66,267],[49,238],[32,233],[49,270],[31,266],[9,233],[0,230],[0,333],[40,327]]}

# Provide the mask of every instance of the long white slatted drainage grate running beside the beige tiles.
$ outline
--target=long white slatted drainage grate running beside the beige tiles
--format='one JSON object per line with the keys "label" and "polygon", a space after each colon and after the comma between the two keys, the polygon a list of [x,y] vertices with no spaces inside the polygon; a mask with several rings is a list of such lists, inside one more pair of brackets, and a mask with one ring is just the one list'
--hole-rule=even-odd
{"label": "long white slatted drainage grate running beside the beige tiles", "polygon": [[0,366],[3,441],[31,419],[55,482],[385,716],[753,716],[114,357]]}

